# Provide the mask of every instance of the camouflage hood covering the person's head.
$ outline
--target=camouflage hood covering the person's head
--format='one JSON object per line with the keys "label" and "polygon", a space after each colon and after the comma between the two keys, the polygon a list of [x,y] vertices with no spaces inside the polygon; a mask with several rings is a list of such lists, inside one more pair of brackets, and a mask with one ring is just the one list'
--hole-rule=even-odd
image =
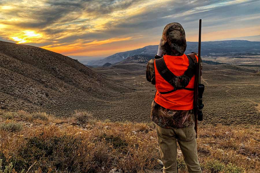
{"label": "camouflage hood covering the person's head", "polygon": [[181,24],[174,22],[164,27],[161,48],[164,55],[181,56],[187,47],[185,31]]}

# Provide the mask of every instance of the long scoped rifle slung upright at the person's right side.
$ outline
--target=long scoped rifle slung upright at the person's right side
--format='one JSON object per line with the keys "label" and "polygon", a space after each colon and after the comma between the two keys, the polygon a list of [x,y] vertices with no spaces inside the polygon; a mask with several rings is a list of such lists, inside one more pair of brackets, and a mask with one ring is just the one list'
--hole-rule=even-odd
{"label": "long scoped rifle slung upright at the person's right side", "polygon": [[200,80],[201,76],[201,19],[199,22],[199,40],[198,40],[198,63],[195,74],[195,82],[194,82],[194,116],[195,116],[195,131],[196,138],[198,137],[198,121],[203,120],[203,112],[202,109],[204,107],[202,103],[203,92],[205,86],[201,84]]}

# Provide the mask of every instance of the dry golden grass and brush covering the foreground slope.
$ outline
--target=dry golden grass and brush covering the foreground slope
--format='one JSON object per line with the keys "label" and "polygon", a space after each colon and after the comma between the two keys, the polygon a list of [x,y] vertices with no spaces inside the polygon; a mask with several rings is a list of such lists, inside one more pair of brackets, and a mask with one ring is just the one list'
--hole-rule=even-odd
{"label": "dry golden grass and brush covering the foreground slope", "polygon": [[[0,159],[20,172],[146,172],[160,159],[153,123],[90,121],[91,115],[57,118],[44,113],[0,111],[1,124],[20,123],[22,130],[0,129]],[[42,116],[43,115],[43,116]],[[42,118],[44,117],[44,118]],[[84,116],[83,116],[84,117]],[[198,153],[203,172],[259,172],[258,126],[203,125]],[[186,172],[178,156],[179,172]]]}

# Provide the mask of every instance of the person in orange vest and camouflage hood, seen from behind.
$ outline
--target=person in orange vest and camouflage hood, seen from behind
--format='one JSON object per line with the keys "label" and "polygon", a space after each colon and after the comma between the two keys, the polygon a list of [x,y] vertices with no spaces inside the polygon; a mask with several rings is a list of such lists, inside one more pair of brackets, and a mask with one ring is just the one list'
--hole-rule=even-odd
{"label": "person in orange vest and camouflage hood, seen from behind", "polygon": [[189,173],[201,173],[194,129],[194,63],[196,53],[185,55],[185,31],[181,24],[164,28],[155,59],[146,67],[146,79],[155,85],[151,119],[156,124],[164,173],[177,173],[177,141]]}

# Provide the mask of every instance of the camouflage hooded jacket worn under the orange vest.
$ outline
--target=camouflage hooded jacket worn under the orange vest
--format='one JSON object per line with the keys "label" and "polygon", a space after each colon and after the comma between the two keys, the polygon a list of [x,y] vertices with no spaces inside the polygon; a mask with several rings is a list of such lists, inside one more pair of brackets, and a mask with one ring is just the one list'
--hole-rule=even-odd
{"label": "camouflage hooded jacket worn under the orange vest", "polygon": [[[185,31],[179,23],[169,23],[164,28],[161,38],[161,48],[164,55],[181,56],[186,50]],[[155,59],[161,58],[155,56]],[[154,59],[151,59],[146,66],[146,79],[155,84]],[[151,119],[157,125],[177,129],[188,127],[195,122],[193,110],[170,110],[152,102]]]}

